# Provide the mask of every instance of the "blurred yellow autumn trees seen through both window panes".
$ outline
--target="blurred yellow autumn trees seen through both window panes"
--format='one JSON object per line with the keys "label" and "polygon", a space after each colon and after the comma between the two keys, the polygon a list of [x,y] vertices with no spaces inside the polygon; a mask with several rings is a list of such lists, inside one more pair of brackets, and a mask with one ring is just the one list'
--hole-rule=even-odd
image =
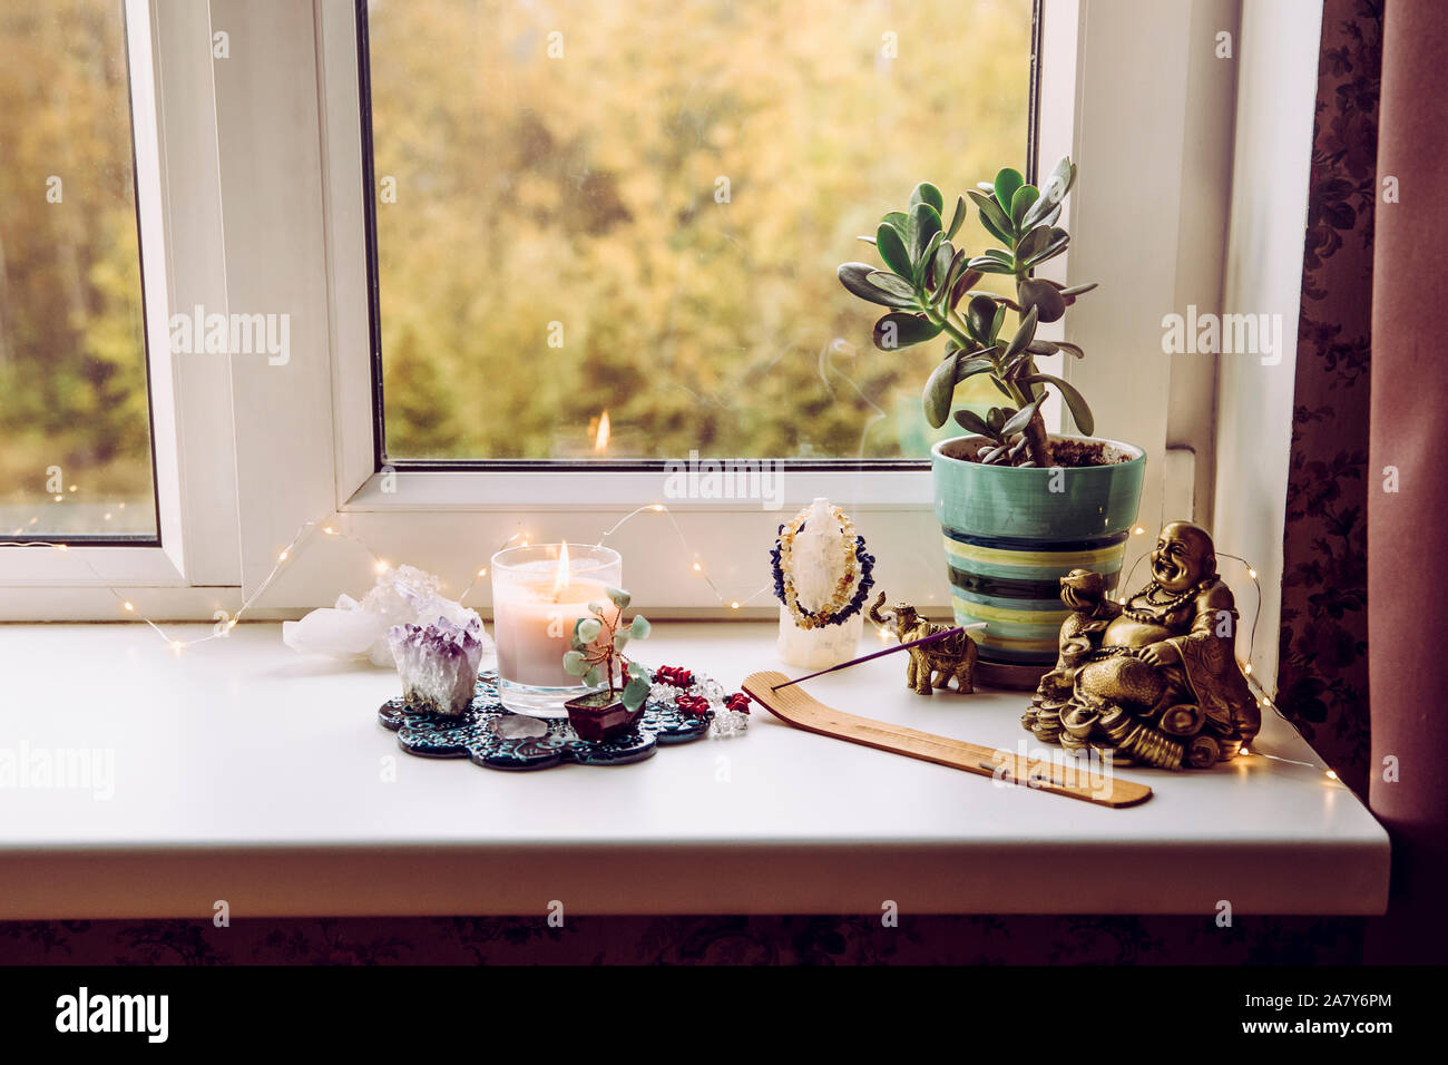
{"label": "blurred yellow autumn trees seen through both window panes", "polygon": [[[835,267],[1024,164],[1030,0],[368,7],[390,456],[924,454]],[[0,3],[4,535],[153,530],[122,12]]]}

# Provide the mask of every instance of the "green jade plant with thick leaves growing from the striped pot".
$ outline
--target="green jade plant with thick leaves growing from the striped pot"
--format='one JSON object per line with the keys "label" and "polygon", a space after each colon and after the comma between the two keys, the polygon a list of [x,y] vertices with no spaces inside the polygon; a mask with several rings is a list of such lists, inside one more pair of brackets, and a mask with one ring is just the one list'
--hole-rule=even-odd
{"label": "green jade plant with thick leaves growing from the striped pot", "polygon": [[[957,384],[977,374],[989,375],[1006,401],[990,407],[985,417],[970,410],[956,412],[963,429],[989,440],[977,452],[986,464],[1053,465],[1041,417],[1048,387],[1061,394],[1083,433],[1089,436],[1095,429],[1085,397],[1035,365],[1038,355],[1060,351],[1076,358],[1085,355],[1074,343],[1035,338],[1040,323],[1058,320],[1077,296],[1096,287],[1095,283],[1066,287],[1034,275],[1070,243],[1070,233],[1056,222],[1074,181],[1076,165],[1063,158],[1044,190],[1009,167],[993,183],[969,190],[966,196],[975,203],[980,225],[1003,245],[973,258],[951,243],[969,212],[966,196],[956,197],[947,226],[940,188],[922,181],[906,210],[891,212],[875,236],[860,238],[875,245],[885,268],[867,262],[840,267],[840,283],[849,291],[889,309],[875,323],[875,345],[882,351],[946,336],[944,359],[925,383],[925,420],[931,427],[938,429],[950,417]],[[1009,275],[1015,298],[976,290],[986,274]],[[1003,332],[1008,312],[1018,316],[1018,323]]]}

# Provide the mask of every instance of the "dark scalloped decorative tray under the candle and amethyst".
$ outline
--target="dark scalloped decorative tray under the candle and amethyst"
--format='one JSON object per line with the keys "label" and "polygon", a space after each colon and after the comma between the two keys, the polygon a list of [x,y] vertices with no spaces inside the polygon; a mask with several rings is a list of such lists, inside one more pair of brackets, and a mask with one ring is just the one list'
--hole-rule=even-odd
{"label": "dark scalloped decorative tray under the candle and amethyst", "polygon": [[401,698],[384,703],[376,717],[397,733],[397,742],[410,755],[468,758],[489,769],[550,769],[562,762],[641,762],[660,743],[688,743],[707,736],[714,713],[695,716],[650,698],[633,732],[595,743],[579,739],[568,719],[524,717],[504,709],[498,700],[498,674],[488,669],[478,677],[472,706],[458,717],[408,710]]}

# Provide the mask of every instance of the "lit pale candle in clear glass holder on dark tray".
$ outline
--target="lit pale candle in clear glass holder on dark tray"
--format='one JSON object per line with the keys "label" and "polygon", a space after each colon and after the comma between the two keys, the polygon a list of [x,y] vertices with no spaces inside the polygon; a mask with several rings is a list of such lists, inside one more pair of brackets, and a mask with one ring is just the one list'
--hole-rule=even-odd
{"label": "lit pale candle in clear glass holder on dark tray", "polygon": [[573,623],[623,584],[613,548],[536,543],[492,556],[492,636],[502,706],[530,717],[566,717],[563,703],[588,691],[563,671]]}

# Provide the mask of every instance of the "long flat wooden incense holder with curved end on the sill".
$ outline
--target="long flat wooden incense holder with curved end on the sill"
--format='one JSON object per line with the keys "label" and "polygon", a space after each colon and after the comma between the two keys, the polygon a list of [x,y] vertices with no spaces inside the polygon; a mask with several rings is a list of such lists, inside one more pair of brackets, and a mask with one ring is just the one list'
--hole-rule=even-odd
{"label": "long flat wooden incense holder with curved end on the sill", "polygon": [[1077,771],[1051,761],[1027,759],[1011,751],[847,714],[825,706],[798,685],[780,687],[788,681],[783,674],[766,669],[746,677],[744,691],[779,720],[821,736],[834,736],[877,751],[891,751],[980,777],[995,777],[1032,791],[1048,791],[1053,795],[1080,798],[1099,806],[1135,806],[1151,798],[1151,788],[1145,784],[1121,780],[1114,774],[1102,774],[1092,780],[1085,768]]}

